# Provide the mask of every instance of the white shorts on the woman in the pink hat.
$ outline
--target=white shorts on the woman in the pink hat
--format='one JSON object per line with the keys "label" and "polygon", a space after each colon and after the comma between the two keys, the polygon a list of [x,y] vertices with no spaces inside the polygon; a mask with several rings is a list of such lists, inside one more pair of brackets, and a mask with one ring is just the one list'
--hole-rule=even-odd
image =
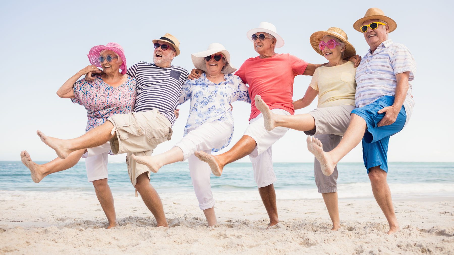
{"label": "white shorts on the woman in the pink hat", "polygon": [[82,155],[85,159],[85,168],[87,168],[87,178],[89,182],[101,179],[108,179],[107,162],[110,150],[110,143],[87,149]]}

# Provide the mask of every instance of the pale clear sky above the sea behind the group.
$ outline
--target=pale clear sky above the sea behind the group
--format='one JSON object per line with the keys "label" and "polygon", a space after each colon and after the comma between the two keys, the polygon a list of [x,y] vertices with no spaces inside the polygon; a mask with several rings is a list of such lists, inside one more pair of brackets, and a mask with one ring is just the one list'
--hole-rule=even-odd
{"label": "pale clear sky above the sea behind the group", "polygon": [[[347,33],[360,56],[368,45],[353,23],[371,7],[381,8],[397,22],[390,33],[413,54],[417,72],[412,82],[415,109],[410,123],[390,140],[390,161],[454,161],[452,68],[452,1],[7,1],[0,16],[2,140],[0,160],[20,160],[26,149],[34,160],[54,159],[55,153],[35,134],[72,138],[84,133],[86,110],[56,96],[57,89],[89,64],[87,53],[94,45],[120,43],[128,67],[152,62],[152,40],[170,33],[181,43],[181,55],[173,64],[193,68],[191,53],[222,43],[231,63],[239,67],[256,57],[246,38],[261,21],[271,22],[285,40],[277,53],[290,53],[309,63],[325,63],[309,43],[312,33],[339,27]],[[298,76],[293,98],[299,99],[311,81]],[[296,111],[306,113],[311,106]],[[188,103],[180,106],[171,141],[155,153],[170,149],[183,136]],[[244,102],[233,103],[235,133],[243,134],[250,113]],[[311,162],[306,135],[290,130],[273,145],[275,162]],[[124,161],[124,155],[110,158]],[[247,162],[247,157],[243,159]],[[361,162],[361,145],[344,159]]]}

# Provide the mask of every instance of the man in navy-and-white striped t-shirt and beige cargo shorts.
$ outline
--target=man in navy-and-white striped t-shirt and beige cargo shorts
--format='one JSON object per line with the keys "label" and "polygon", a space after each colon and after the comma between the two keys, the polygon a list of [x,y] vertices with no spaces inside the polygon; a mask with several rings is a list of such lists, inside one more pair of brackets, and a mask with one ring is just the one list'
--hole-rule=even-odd
{"label": "man in navy-and-white striped t-shirt and beige cargo shorts", "polygon": [[[176,118],[174,110],[177,109],[180,91],[189,73],[183,67],[171,65],[173,58],[180,54],[177,38],[165,34],[153,40],[153,43],[153,64],[139,62],[127,71],[137,81],[133,112],[115,114],[103,125],[75,139],[60,140],[40,131],[38,135],[62,159],[78,149],[96,147],[108,141],[114,154],[127,153],[126,164],[131,183],[153,213],[158,226],[167,227],[163,204],[150,183],[150,170],[146,165],[131,160],[131,154],[151,156],[158,144],[170,140],[171,127]],[[91,73],[85,79],[93,80]]]}

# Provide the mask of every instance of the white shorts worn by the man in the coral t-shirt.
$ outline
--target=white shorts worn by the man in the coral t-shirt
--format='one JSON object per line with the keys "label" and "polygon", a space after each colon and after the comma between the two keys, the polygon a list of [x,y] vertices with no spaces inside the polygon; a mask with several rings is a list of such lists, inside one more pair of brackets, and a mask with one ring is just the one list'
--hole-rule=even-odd
{"label": "white shorts worn by the man in the coral t-shirt", "polygon": [[[290,115],[288,111],[282,109],[271,110],[275,114]],[[263,125],[263,116],[259,114],[257,117],[249,121],[244,135],[252,137],[256,143],[256,148],[249,154],[254,169],[254,179],[258,188],[266,187],[276,182],[276,175],[273,169],[273,159],[271,145],[281,139],[287,132],[288,128],[276,127],[271,131],[265,129]]]}

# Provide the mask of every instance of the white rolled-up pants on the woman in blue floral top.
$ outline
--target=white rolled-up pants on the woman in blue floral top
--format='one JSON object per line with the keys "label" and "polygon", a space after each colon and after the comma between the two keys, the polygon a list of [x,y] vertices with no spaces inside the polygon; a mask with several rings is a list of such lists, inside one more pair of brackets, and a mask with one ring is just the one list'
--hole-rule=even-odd
{"label": "white rolled-up pants on the woman in blue floral top", "polygon": [[212,121],[188,130],[188,134],[175,144],[183,151],[183,160],[188,159],[189,174],[192,186],[196,193],[199,207],[206,210],[214,206],[213,193],[211,192],[210,174],[208,163],[198,159],[196,150],[211,154],[213,148],[221,148],[230,139],[233,125],[227,121]]}

